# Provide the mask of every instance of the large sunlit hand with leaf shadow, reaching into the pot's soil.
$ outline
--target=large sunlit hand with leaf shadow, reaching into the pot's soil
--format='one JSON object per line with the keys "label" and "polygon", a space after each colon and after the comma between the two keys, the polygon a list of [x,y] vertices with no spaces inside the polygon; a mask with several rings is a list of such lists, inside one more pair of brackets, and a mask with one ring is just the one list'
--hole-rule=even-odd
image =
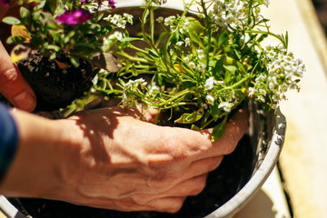
{"label": "large sunlit hand with leaf shadow, reaching into the pot's soil", "polygon": [[[42,144],[34,143],[32,150],[21,144],[16,159],[25,159],[29,167],[17,173],[22,170],[15,161],[2,190],[19,186],[19,193],[7,194],[120,211],[177,212],[186,196],[203,190],[207,173],[223,155],[233,152],[246,132],[247,119],[245,111],[235,114],[214,143],[210,130],[150,124],[119,107],[51,121],[46,124],[51,131],[43,128],[46,134],[34,128],[33,138],[46,135]],[[54,134],[59,128],[61,134]]]}

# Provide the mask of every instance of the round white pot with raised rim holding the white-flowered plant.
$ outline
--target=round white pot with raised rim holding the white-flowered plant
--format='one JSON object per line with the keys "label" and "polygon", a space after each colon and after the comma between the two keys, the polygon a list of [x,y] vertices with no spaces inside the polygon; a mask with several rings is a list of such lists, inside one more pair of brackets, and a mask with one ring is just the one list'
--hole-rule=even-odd
{"label": "round white pot with raised rim holding the white-flowered plant", "polygon": [[[139,1],[133,4],[130,2],[122,2],[122,4],[117,5],[117,11],[121,10],[122,12],[126,12],[128,8],[129,10],[127,13],[134,14],[134,17],[135,15],[140,15],[140,11],[138,10]],[[183,11],[183,5],[178,3],[177,5],[164,5],[164,8],[164,15],[169,15],[172,12],[175,13],[176,10]],[[251,200],[255,193],[261,189],[263,183],[272,172],[282,151],[286,120],[280,110],[265,115],[259,115],[253,113],[255,109],[250,109],[252,110],[249,127],[253,151],[253,163],[250,163],[252,165],[252,175],[246,178],[245,182],[243,181],[242,184],[240,183],[240,189],[230,200],[223,203],[223,205],[213,212],[204,215],[205,218],[232,217],[233,214],[237,213]],[[0,197],[0,210],[9,218],[25,217],[25,215],[20,213],[4,196]],[[61,209],[58,208],[58,210]]]}

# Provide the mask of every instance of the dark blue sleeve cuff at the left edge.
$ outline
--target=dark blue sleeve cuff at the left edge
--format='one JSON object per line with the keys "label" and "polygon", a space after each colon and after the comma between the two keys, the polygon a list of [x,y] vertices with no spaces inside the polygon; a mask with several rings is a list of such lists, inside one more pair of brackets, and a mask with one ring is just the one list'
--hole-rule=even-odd
{"label": "dark blue sleeve cuff at the left edge", "polygon": [[0,182],[12,163],[18,145],[18,132],[9,108],[0,103]]}

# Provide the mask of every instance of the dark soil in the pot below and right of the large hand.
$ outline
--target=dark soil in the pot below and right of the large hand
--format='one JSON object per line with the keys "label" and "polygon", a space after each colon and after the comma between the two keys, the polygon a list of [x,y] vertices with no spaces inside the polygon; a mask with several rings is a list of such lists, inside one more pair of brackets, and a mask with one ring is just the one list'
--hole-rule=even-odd
{"label": "dark soil in the pot below and right of the large hand", "polygon": [[118,212],[41,199],[9,199],[33,218],[201,218],[227,202],[249,180],[253,172],[253,147],[245,135],[233,154],[209,174],[202,193],[189,197],[178,213]]}

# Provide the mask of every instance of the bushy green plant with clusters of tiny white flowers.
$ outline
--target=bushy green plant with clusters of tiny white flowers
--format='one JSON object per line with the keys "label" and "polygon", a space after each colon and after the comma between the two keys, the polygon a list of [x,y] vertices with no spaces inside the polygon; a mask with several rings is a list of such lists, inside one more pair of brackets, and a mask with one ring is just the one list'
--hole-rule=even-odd
{"label": "bushy green plant with clusters of tiny white flowers", "polygon": [[[304,64],[287,50],[287,33],[273,34],[260,14],[267,0],[194,0],[182,15],[158,17],[164,2],[144,2],[139,35],[129,35],[126,27],[104,39],[105,50],[114,50],[123,67],[118,74],[99,74],[108,83],[95,85],[96,90],[121,94],[124,107],[168,111],[174,124],[193,130],[210,124],[214,141],[243,101],[275,109],[289,89],[299,89]],[[122,16],[108,19],[118,26]],[[263,46],[268,36],[280,43]],[[114,77],[118,91],[109,85]]]}

